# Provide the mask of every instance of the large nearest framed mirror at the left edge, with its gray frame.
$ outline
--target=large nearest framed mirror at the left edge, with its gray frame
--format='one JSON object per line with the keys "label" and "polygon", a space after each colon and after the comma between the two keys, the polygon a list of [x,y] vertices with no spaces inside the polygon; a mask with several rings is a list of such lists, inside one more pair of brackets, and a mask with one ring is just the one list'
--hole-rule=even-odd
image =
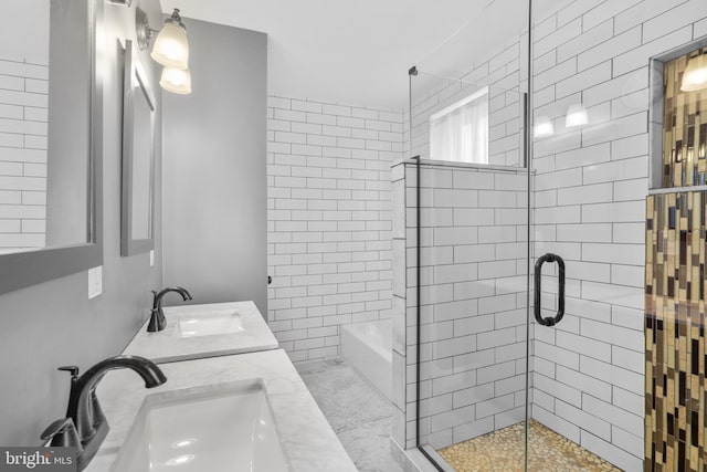
{"label": "large nearest framed mirror at the left edge, with its gray frame", "polygon": [[103,264],[95,0],[7,0],[0,293]]}

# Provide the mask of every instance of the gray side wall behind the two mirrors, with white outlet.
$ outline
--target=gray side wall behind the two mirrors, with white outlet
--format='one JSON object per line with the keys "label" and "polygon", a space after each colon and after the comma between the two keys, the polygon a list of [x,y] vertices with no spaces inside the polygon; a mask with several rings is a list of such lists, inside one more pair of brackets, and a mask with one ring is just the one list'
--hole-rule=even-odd
{"label": "gray side wall behind the two mirrors, with white outlet", "polygon": [[[104,80],[103,117],[103,294],[88,300],[86,272],[0,296],[0,444],[39,444],[42,430],[62,418],[68,376],[56,367],[82,369],[119,354],[149,314],[150,289],[161,285],[160,169],[156,198],[156,264],[147,253],[120,258],[120,127],[123,71],[117,39],[135,35],[135,11],[98,1],[98,64]],[[159,24],[157,0],[140,0]],[[147,56],[143,62],[147,64]],[[157,76],[154,77],[157,83]],[[158,94],[159,96],[159,94]],[[159,98],[158,98],[159,101]],[[159,118],[158,118],[159,119]],[[159,123],[158,123],[159,133]],[[160,155],[157,137],[157,156]],[[158,162],[159,166],[159,162]]]}

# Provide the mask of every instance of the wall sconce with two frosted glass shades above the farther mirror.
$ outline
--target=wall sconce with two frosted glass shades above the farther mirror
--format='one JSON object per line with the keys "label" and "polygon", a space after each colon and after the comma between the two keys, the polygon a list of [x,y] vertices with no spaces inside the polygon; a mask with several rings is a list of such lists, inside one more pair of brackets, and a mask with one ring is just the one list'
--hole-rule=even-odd
{"label": "wall sconce with two frosted glass shades above the farther mirror", "polygon": [[160,86],[177,94],[191,93],[187,27],[181,21],[179,9],[176,8],[172,15],[165,20],[162,29],[157,31],[150,28],[147,13],[138,8],[135,11],[135,30],[137,45],[143,51],[150,46],[150,40],[157,34],[150,57],[165,67]]}

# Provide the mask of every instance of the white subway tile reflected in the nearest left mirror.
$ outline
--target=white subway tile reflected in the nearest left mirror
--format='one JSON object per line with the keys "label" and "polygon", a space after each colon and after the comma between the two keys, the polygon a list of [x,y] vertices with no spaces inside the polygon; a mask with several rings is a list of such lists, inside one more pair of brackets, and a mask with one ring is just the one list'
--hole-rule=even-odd
{"label": "white subway tile reflected in the nearest left mirror", "polygon": [[0,253],[44,245],[48,74],[0,59]]}

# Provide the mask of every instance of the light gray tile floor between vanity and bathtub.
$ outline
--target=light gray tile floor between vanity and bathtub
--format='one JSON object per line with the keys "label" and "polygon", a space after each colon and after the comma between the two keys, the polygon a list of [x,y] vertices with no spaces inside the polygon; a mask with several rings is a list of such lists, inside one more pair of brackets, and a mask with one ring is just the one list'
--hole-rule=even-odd
{"label": "light gray tile floor between vanity and bathtub", "polygon": [[341,359],[296,365],[360,472],[402,472],[390,453],[391,405]]}

